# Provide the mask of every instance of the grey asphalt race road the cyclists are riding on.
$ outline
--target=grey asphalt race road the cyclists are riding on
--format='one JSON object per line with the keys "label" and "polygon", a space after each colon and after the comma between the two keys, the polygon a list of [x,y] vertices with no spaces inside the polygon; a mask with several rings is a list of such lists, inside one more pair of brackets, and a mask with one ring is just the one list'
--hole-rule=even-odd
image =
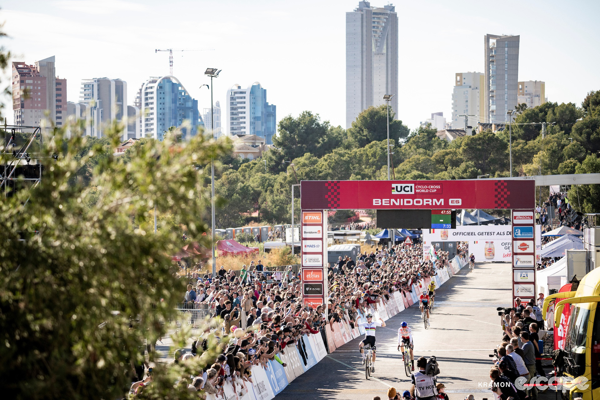
{"label": "grey asphalt race road the cyclists are riding on", "polygon": [[[479,382],[490,381],[490,357],[499,343],[497,306],[511,303],[511,266],[509,263],[478,263],[473,272],[461,270],[436,290],[431,326],[425,330],[417,307],[410,307],[377,328],[375,372],[365,380],[364,366],[358,353],[361,338],[354,339],[328,354],[316,366],[292,381],[275,398],[371,400],[387,399],[389,387],[410,389],[397,347],[397,332],[407,321],[415,342],[415,363],[420,356],[436,356],[440,366],[438,383],[446,386],[451,400],[494,396]],[[416,366],[415,366],[416,368]]]}

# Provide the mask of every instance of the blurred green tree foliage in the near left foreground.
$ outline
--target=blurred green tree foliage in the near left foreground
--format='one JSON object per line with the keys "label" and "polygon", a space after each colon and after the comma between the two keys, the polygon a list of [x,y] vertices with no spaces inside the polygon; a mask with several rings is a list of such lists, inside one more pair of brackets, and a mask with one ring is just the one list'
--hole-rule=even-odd
{"label": "blurred green tree foliage in the near left foreground", "polygon": [[[226,147],[202,135],[187,143],[148,140],[125,159],[83,137],[77,124],[47,138],[40,184],[0,202],[0,386],[11,399],[122,398],[130,362],[144,339],[156,341],[185,291],[170,255],[181,246],[177,225],[209,246],[200,215],[201,185],[211,157]],[[106,132],[106,131],[105,131]],[[109,146],[109,151],[106,151]],[[53,160],[52,154],[59,154]],[[89,187],[71,178],[98,154]],[[7,158],[2,157],[2,163]],[[31,196],[29,198],[29,196]],[[26,199],[29,201],[26,203]],[[26,204],[25,204],[26,203]],[[170,213],[154,234],[151,210]],[[180,338],[181,339],[181,338]],[[198,366],[214,359],[216,339]],[[158,366],[148,395],[192,398],[173,387],[186,365]],[[197,396],[196,396],[197,398]]]}

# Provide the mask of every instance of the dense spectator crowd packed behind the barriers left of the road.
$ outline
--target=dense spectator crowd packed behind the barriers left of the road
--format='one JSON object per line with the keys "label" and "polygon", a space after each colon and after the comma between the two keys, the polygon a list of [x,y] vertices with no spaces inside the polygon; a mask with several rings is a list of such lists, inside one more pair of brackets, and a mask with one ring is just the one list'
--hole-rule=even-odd
{"label": "dense spectator crowd packed behind the barriers left of the road", "polygon": [[[459,246],[461,254],[465,246]],[[292,266],[265,271],[259,261],[242,266],[238,273],[221,267],[214,278],[197,273],[187,276],[183,307],[203,309],[206,315],[219,317],[220,326],[203,332],[190,349],[177,350],[173,362],[202,354],[208,348],[209,335],[230,335],[230,341],[220,342],[220,354],[213,363],[190,377],[182,377],[179,384],[203,391],[199,394],[220,395],[226,382],[235,387],[240,380],[251,381],[253,365],[266,366],[268,360],[275,360],[286,366],[278,354],[291,346],[298,347],[301,362],[307,365],[302,335],[322,335],[327,346],[325,324],[333,327],[336,321],[344,320],[353,328],[359,312],[367,314],[368,308],[380,300],[394,301],[394,291],[412,291],[414,282],[448,267],[448,261],[448,253],[442,251],[426,260],[419,243],[383,245],[355,259],[339,257],[335,263],[328,263],[329,296],[325,305],[316,309],[302,305],[301,279]],[[149,378],[142,380],[143,370],[137,375],[132,397],[150,382]]]}

